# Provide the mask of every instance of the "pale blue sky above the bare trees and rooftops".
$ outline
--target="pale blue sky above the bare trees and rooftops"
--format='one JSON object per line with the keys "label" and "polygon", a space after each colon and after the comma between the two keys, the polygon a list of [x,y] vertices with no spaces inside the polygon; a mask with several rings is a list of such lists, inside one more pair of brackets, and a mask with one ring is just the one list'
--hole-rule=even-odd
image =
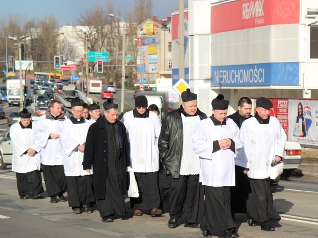
{"label": "pale blue sky above the bare trees and rooftops", "polygon": [[[44,15],[54,14],[60,26],[76,25],[80,13],[100,4],[106,9],[108,0],[0,0],[0,18],[18,14],[21,19],[41,19]],[[134,0],[111,0],[115,11],[121,13],[133,9]],[[178,9],[178,0],[153,0],[153,15],[159,19],[170,16],[171,9]],[[113,12],[116,14],[116,12]]]}

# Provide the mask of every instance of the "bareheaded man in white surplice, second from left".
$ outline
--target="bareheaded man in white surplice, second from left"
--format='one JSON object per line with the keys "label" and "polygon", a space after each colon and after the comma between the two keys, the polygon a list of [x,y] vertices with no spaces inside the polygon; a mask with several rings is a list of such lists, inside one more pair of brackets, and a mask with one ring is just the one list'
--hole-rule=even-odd
{"label": "bareheaded man in white surplice, second from left", "polygon": [[62,113],[62,104],[53,99],[49,109],[36,123],[34,137],[41,146],[41,163],[46,191],[51,203],[65,202],[66,178],[63,167],[65,153],[60,147],[60,127],[66,116]]}

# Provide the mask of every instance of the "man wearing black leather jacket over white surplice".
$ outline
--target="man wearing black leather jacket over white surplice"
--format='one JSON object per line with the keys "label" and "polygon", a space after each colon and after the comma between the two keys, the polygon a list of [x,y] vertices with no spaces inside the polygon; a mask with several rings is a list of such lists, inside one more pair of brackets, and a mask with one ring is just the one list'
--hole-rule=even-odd
{"label": "man wearing black leather jacket over white surplice", "polygon": [[200,161],[192,150],[197,125],[207,115],[198,108],[197,95],[188,88],[183,103],[162,121],[159,153],[166,177],[162,184],[163,208],[169,213],[168,228],[185,220],[185,227],[199,228],[203,206],[203,187],[199,182]]}

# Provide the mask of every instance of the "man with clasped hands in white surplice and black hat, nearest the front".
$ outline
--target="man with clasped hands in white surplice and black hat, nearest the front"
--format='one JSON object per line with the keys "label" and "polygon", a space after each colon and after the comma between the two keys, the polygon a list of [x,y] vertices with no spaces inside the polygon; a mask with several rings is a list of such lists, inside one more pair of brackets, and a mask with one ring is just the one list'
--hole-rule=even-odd
{"label": "man with clasped hands in white surplice and black hat, nearest the front", "polygon": [[229,101],[219,94],[212,100],[212,116],[202,120],[192,148],[200,157],[200,181],[205,200],[200,228],[204,237],[235,238],[236,225],[231,216],[230,186],[235,186],[236,151],[242,147],[239,127],[226,118]]}

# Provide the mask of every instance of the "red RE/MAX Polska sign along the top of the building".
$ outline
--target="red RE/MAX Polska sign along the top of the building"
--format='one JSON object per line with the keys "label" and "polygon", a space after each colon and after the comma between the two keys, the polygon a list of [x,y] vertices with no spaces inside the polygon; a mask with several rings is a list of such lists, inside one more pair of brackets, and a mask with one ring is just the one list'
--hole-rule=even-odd
{"label": "red RE/MAX Polska sign along the top of the building", "polygon": [[240,0],[211,7],[211,33],[297,24],[300,0]]}

